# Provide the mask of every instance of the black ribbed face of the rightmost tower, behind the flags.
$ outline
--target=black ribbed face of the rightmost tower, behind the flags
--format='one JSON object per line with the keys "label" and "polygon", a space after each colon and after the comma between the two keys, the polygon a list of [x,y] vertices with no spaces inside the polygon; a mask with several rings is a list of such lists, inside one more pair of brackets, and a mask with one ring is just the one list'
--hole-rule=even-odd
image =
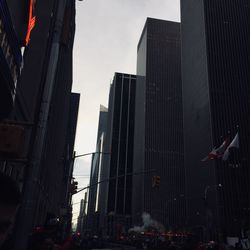
{"label": "black ribbed face of the rightmost tower, behind the flags", "polygon": [[250,3],[204,1],[212,136],[233,139],[240,154],[216,164],[221,222],[227,234],[250,228]]}

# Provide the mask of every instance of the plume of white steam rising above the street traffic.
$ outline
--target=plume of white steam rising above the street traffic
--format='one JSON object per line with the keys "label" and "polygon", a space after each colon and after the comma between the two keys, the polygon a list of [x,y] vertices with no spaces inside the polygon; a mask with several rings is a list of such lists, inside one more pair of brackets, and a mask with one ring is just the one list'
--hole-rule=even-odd
{"label": "plume of white steam rising above the street traffic", "polygon": [[150,214],[148,213],[144,212],[142,214],[142,221],[143,221],[143,225],[141,227],[135,226],[133,228],[130,228],[129,232],[140,233],[140,232],[147,231],[148,229],[156,229],[158,232],[161,232],[161,233],[165,231],[164,226],[160,222],[151,218]]}

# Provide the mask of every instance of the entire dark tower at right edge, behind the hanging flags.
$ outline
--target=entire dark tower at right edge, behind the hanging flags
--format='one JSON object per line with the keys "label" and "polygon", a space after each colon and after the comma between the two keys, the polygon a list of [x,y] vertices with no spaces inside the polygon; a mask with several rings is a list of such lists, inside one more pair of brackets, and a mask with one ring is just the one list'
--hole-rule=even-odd
{"label": "entire dark tower at right edge, behind the hanging flags", "polygon": [[[250,3],[183,0],[181,13],[187,223],[240,236],[250,228]],[[201,162],[237,132],[238,155]]]}

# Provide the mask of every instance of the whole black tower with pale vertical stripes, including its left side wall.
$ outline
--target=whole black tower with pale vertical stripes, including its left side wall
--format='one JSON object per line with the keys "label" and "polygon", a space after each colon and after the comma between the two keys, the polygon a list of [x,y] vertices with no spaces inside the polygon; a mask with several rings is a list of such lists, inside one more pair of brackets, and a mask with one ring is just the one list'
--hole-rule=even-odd
{"label": "whole black tower with pale vertical stripes, including its left side wall", "polygon": [[117,237],[131,226],[136,76],[115,73],[109,94],[99,208],[102,233]]}

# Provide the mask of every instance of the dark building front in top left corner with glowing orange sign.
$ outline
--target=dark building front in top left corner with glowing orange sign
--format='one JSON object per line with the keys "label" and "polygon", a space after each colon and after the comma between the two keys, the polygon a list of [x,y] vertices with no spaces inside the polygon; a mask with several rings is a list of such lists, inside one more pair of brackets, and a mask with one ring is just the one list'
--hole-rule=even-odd
{"label": "dark building front in top left corner with glowing orange sign", "polygon": [[[0,119],[13,109],[23,67],[21,47],[28,33],[29,1],[2,0],[0,3]],[[31,1],[32,2],[32,1]],[[33,28],[35,20],[33,22]],[[31,29],[29,31],[29,37]]]}

